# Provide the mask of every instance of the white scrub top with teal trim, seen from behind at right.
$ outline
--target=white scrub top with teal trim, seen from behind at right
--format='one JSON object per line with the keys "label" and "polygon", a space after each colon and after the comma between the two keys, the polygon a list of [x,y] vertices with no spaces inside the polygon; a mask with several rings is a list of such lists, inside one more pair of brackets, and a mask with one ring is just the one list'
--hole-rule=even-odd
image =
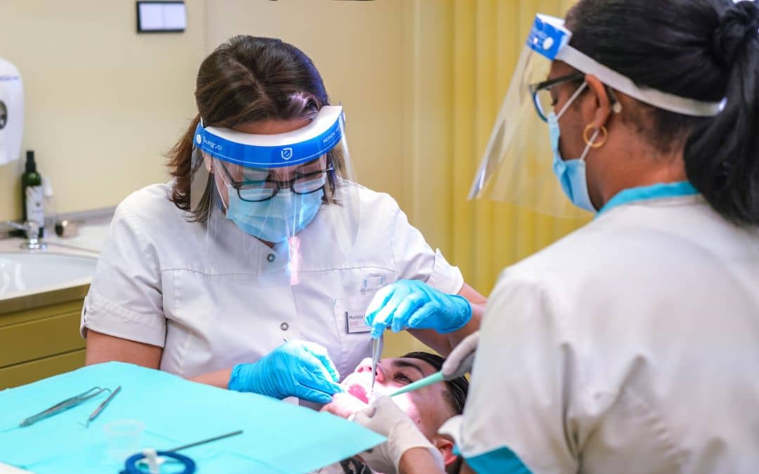
{"label": "white scrub top with teal trim, seen from behind at right", "polygon": [[478,472],[759,472],[759,231],[631,202],[505,269],[441,431]]}

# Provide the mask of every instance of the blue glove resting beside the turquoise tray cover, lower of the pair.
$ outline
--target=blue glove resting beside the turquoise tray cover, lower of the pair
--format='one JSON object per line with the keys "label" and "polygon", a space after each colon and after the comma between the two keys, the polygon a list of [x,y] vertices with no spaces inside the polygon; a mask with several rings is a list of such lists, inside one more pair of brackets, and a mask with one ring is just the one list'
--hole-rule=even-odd
{"label": "blue glove resting beside the turquoise tray cover, lower of the pair", "polygon": [[235,366],[228,388],[280,400],[298,397],[329,403],[332,394],[343,391],[339,380],[340,375],[324,347],[307,341],[288,341],[256,363]]}

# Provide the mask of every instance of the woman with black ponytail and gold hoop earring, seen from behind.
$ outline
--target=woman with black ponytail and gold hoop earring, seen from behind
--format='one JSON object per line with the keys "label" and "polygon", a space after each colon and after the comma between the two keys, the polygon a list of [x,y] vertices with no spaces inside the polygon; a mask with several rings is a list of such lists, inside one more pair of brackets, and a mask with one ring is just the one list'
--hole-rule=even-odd
{"label": "woman with black ponytail and gold hoop earring, seen from behind", "polygon": [[[477,348],[440,430],[461,472],[757,472],[756,2],[580,0],[527,44],[494,135],[534,104],[559,184],[597,215],[506,268],[449,357]],[[509,149],[489,147],[477,195],[527,169]],[[355,419],[390,435],[367,460],[442,472],[389,399]]]}

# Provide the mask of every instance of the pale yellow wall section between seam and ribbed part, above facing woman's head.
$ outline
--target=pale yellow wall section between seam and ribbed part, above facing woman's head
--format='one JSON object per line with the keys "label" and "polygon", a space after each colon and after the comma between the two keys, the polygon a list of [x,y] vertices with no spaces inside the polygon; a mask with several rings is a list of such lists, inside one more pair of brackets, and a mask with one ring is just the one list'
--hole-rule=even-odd
{"label": "pale yellow wall section between seam and ribbed part, above facing woman's head", "polygon": [[273,36],[313,60],[330,101],[345,108],[357,179],[402,206],[405,3],[208,0],[206,7],[210,49],[235,34]]}

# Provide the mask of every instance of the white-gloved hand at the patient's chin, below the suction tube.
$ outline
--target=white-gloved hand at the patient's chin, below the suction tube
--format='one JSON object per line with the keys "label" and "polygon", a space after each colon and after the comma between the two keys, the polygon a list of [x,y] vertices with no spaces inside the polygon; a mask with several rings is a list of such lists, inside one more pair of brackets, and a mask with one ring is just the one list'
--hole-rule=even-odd
{"label": "white-gloved hand at the patient's chin, below the suction tube", "polygon": [[430,450],[440,470],[444,469],[440,451],[387,395],[377,398],[370,407],[356,412],[349,419],[387,438],[383,444],[361,453],[361,458],[372,470],[386,474],[398,472],[401,456],[412,447]]}

